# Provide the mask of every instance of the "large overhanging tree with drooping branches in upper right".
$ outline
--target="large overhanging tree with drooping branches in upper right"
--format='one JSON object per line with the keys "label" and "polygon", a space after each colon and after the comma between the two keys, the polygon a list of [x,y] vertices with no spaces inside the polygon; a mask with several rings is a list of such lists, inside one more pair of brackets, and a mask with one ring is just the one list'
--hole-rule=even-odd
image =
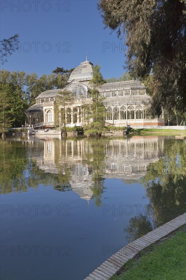
{"label": "large overhanging tree with drooping branches in upper right", "polygon": [[127,65],[137,78],[153,73],[152,113],[186,107],[186,0],[100,0],[106,26],[126,38]]}

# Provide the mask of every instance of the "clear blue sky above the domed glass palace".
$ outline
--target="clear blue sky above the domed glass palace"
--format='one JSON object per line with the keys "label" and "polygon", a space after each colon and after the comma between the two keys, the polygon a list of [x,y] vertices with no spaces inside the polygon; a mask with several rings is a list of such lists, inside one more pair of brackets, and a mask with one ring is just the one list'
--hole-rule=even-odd
{"label": "clear blue sky above the domed glass palace", "polygon": [[104,78],[125,70],[125,46],[104,29],[96,0],[1,1],[1,40],[18,33],[19,50],[1,69],[50,74],[71,69],[86,59],[102,66]]}

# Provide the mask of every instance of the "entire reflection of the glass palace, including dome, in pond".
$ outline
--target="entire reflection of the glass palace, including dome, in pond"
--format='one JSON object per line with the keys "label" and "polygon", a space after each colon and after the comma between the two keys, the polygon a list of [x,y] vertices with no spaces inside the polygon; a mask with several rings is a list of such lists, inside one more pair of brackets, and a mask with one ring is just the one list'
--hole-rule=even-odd
{"label": "entire reflection of the glass palace, including dome, in pond", "polygon": [[[86,138],[66,141],[52,138],[45,141],[30,137],[30,146],[33,141],[38,143],[38,149],[31,149],[30,156],[36,159],[38,167],[45,173],[69,173],[71,188],[86,200],[93,195],[90,187],[95,184],[96,172],[103,179],[139,180],[146,174],[148,165],[157,162],[164,151],[164,138],[160,136],[106,139],[99,151],[103,160],[96,162],[94,141]],[[94,163],[99,171],[94,170]]]}

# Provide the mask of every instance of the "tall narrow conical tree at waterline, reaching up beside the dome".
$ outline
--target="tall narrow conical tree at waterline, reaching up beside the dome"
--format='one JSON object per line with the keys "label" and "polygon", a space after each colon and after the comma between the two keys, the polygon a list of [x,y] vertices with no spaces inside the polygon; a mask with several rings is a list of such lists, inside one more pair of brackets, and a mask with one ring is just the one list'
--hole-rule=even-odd
{"label": "tall narrow conical tree at waterline, reaching up beside the dome", "polygon": [[93,76],[90,80],[90,85],[92,85],[92,90],[90,90],[92,104],[90,105],[91,115],[88,116],[88,119],[91,119],[91,122],[84,128],[84,134],[87,136],[101,136],[102,131],[105,130],[105,107],[102,102],[104,98],[101,98],[99,93],[99,86],[103,85],[105,80],[102,77],[100,68],[99,65],[94,66]]}

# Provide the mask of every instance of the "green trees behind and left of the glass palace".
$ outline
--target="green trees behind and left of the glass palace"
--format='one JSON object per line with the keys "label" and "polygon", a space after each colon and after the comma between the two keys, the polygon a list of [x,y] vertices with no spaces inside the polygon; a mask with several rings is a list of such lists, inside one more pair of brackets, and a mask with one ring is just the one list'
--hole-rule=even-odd
{"label": "green trees behind and left of the glass palace", "polygon": [[[38,77],[36,73],[26,74],[24,71],[10,72],[7,70],[1,70],[1,95],[3,91],[6,92],[5,100],[6,103],[8,102],[8,104],[10,104],[10,106],[6,107],[7,124],[5,126],[7,128],[11,125],[13,127],[20,127],[22,124],[24,124],[25,110],[28,108],[28,106],[35,104],[35,98],[40,93],[55,88],[64,88],[67,85],[67,80],[72,69],[64,71],[65,72],[63,75],[55,71],[50,75],[42,75],[41,77]],[[1,126],[3,120],[2,114],[3,113],[0,113]]]}

